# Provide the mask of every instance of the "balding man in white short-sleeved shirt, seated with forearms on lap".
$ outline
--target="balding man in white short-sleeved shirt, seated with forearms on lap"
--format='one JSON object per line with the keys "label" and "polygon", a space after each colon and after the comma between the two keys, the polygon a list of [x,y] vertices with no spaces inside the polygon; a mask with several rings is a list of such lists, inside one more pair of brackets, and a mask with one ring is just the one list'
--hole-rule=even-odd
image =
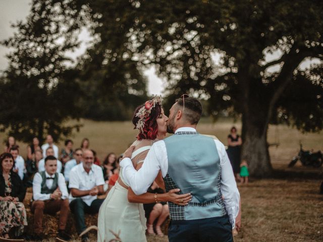
{"label": "balding man in white short-sleeved shirt, seated with forearms on lap", "polygon": [[[98,213],[104,199],[97,199],[103,194],[102,168],[93,164],[94,155],[91,150],[83,152],[83,161],[74,166],[70,172],[70,208],[74,214],[78,234],[85,229],[84,213]],[[89,241],[88,235],[82,235],[82,242]]]}

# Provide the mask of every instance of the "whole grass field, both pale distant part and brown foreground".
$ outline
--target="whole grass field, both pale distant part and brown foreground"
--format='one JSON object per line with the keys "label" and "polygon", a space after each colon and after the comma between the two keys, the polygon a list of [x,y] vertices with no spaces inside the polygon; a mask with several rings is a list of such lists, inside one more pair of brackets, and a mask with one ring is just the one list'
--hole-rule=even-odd
{"label": "whole grass field, both pale distant part and brown foreground", "polygon": [[[84,137],[89,138],[90,148],[97,151],[101,161],[109,152],[122,153],[135,139],[136,131],[131,122],[81,120],[81,123],[84,127],[72,137],[74,147],[78,147]],[[221,120],[215,124],[202,120],[197,131],[216,135],[227,144],[232,125],[232,120]],[[241,133],[241,124],[236,123],[235,126]],[[323,241],[323,195],[318,194],[321,179],[317,178],[322,174],[322,167],[314,169],[298,163],[287,168],[292,157],[298,153],[299,142],[304,149],[323,150],[322,133],[302,134],[286,126],[271,126],[268,130],[268,143],[279,143],[277,147],[270,147],[273,167],[277,171],[296,175],[262,180],[251,178],[248,186],[238,185],[242,199],[242,231],[235,241]],[[20,147],[25,157],[26,144],[20,143]],[[297,175],[304,173],[306,178]],[[147,238],[149,242],[168,241],[167,237]],[[91,234],[91,239],[96,240],[95,234]]]}

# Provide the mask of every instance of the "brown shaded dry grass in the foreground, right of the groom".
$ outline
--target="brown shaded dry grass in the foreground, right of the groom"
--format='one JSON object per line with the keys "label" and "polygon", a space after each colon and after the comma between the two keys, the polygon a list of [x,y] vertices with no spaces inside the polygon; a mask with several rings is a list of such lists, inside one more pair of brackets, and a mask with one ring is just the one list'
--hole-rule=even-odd
{"label": "brown shaded dry grass in the foreground, right of the groom", "polygon": [[[320,180],[315,179],[262,179],[251,180],[248,186],[239,185],[242,230],[235,241],[323,241],[323,195],[318,194],[319,185]],[[75,233],[73,238],[78,241]],[[96,241],[96,234],[91,232],[90,238]],[[149,235],[147,240],[167,242],[168,238]]]}

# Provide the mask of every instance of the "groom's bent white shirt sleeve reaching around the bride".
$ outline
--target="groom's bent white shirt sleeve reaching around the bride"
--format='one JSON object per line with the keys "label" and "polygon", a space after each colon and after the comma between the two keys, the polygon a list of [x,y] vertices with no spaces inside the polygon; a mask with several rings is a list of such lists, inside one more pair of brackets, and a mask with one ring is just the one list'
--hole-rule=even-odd
{"label": "groom's bent white shirt sleeve reaching around the bride", "polygon": [[145,193],[156,178],[159,170],[161,170],[164,176],[167,172],[168,164],[165,143],[159,141],[151,146],[142,167],[138,171],[133,167],[129,157],[124,158],[120,162],[120,166],[122,167],[123,178],[133,192],[136,195]]}

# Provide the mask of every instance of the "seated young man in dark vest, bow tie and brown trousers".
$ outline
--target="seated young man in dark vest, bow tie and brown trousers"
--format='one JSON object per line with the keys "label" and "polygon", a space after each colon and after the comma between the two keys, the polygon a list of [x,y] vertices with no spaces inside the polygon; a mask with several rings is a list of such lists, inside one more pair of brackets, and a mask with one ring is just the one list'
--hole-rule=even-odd
{"label": "seated young man in dark vest, bow tie and brown trousers", "polygon": [[60,211],[59,237],[69,240],[65,232],[69,213],[68,192],[65,178],[57,172],[57,158],[49,155],[45,158],[45,171],[37,172],[32,182],[33,202],[31,211],[34,213],[34,240],[41,241],[43,213],[55,215]]}

